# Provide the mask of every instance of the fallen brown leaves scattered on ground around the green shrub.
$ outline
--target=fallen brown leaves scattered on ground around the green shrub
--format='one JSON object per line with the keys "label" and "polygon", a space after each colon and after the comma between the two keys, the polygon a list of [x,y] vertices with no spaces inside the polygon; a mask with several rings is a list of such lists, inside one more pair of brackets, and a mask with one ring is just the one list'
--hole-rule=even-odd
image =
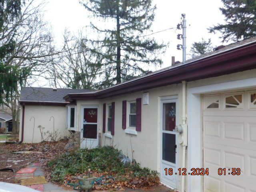
{"label": "fallen brown leaves scattered on ground around the green shrub", "polygon": [[[5,145],[1,144],[0,148],[4,149],[4,153],[12,153],[18,151],[27,151],[32,150],[34,152],[40,153],[28,153],[28,154],[12,154],[12,156],[16,156],[17,160],[20,159],[29,159],[31,162],[41,162],[42,168],[45,171],[45,177],[47,180],[50,180],[50,170],[46,167],[46,163],[49,160],[52,160],[54,157],[59,156],[64,151],[64,146],[67,141],[58,141],[58,142],[41,142],[38,144],[10,144]],[[22,167],[22,165],[20,165]],[[101,177],[105,176],[102,182],[109,182],[106,178],[107,176],[112,176],[115,178],[115,182],[112,184],[97,184],[95,182],[94,189],[96,190],[108,190],[108,189],[116,189],[116,190],[124,190],[125,188],[150,188],[152,186],[156,186],[160,183],[159,178],[157,176],[147,176],[147,177],[134,177],[131,176],[132,173],[127,172],[126,174],[120,175],[115,172],[93,172],[92,176]],[[77,180],[78,174],[72,176],[68,175],[64,180],[64,186],[71,188],[68,186],[68,182],[78,183]]]}

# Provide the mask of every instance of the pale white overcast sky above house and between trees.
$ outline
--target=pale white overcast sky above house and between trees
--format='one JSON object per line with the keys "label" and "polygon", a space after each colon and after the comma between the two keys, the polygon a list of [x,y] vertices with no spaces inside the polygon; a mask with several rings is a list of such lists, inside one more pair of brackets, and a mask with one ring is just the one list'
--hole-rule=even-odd
{"label": "pale white overcast sky above house and between trees", "polygon": [[[220,34],[209,34],[207,28],[223,23],[219,7],[221,0],[153,0],[157,6],[155,20],[152,31],[160,31],[170,27],[176,27],[180,21],[181,14],[186,14],[187,20],[187,54],[190,53],[191,44],[200,41],[201,38],[212,38],[212,45],[221,45],[218,38]],[[79,29],[90,23],[89,13],[79,4],[79,0],[50,0],[46,6],[45,19],[51,24],[56,44],[61,44],[64,28],[76,33]],[[159,42],[170,42],[166,53],[162,55],[164,64],[161,68],[170,66],[171,56],[182,61],[182,51],[176,50],[177,44],[182,44],[182,40],[177,40],[178,33],[182,30],[168,30],[154,36]],[[189,58],[189,55],[187,56]],[[156,70],[158,68],[153,68]]]}

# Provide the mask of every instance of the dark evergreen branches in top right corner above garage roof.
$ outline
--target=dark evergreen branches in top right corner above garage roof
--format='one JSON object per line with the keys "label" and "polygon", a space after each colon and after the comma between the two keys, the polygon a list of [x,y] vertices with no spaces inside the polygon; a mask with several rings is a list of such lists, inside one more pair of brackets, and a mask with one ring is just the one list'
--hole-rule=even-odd
{"label": "dark evergreen branches in top right corner above garage roof", "polygon": [[225,16],[225,24],[217,24],[209,31],[222,33],[222,42],[238,41],[256,36],[256,1],[222,0],[220,11]]}

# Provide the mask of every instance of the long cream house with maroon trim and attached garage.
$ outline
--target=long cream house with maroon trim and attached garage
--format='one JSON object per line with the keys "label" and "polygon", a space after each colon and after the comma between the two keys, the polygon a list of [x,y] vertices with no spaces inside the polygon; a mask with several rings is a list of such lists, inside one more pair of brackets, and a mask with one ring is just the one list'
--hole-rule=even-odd
{"label": "long cream house with maroon trim and attached garage", "polygon": [[256,189],[256,38],[58,102],[41,89],[47,101],[21,93],[24,142],[32,116],[50,129],[54,116],[55,128],[80,132],[82,148],[112,145],[178,191]]}

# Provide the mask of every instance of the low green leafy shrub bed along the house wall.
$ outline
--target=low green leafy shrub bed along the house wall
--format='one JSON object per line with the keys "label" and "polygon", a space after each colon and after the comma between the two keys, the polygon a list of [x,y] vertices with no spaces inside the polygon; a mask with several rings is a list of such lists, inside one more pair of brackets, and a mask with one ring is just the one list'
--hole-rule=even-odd
{"label": "low green leafy shrub bed along the house wall", "polygon": [[157,172],[148,168],[141,168],[138,163],[126,168],[118,158],[119,153],[120,151],[110,146],[72,150],[51,160],[47,166],[51,171],[51,179],[55,182],[63,182],[66,176],[81,174],[88,169],[98,173],[108,172],[120,178],[124,178],[124,174],[131,177],[157,175]]}

